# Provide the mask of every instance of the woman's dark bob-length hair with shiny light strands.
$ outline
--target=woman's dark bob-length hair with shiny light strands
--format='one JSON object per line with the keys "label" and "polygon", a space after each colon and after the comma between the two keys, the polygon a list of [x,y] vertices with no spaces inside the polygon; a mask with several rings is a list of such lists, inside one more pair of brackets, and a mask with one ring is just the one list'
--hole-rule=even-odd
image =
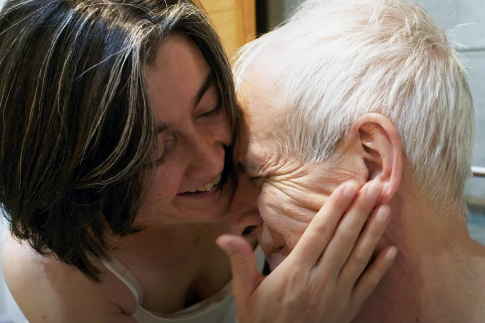
{"label": "woman's dark bob-length hair with shiny light strands", "polygon": [[196,43],[234,126],[221,42],[191,0],[8,0],[0,14],[0,205],[13,236],[100,282],[92,260],[134,226],[157,137],[144,68]]}

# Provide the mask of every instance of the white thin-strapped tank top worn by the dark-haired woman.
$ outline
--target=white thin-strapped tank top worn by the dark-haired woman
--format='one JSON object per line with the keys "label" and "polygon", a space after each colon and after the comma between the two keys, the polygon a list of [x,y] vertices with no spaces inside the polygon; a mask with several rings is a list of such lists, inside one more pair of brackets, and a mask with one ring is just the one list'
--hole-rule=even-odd
{"label": "white thin-strapped tank top worn by the dark-haired woman", "polygon": [[[260,270],[264,266],[264,254],[260,247],[254,251],[256,264]],[[182,311],[173,314],[161,314],[142,307],[143,289],[133,273],[120,261],[112,258],[103,261],[111,271],[133,293],[136,299],[136,311],[131,315],[137,323],[237,323],[236,306],[232,295],[232,283],[222,290]]]}

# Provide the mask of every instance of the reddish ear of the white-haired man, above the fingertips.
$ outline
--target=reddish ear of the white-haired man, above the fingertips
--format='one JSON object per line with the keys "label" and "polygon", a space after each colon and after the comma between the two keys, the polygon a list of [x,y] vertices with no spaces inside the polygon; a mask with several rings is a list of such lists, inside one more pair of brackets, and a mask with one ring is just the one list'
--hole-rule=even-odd
{"label": "reddish ear of the white-haired man, above the fingertips", "polygon": [[354,138],[358,154],[363,158],[367,180],[383,183],[379,203],[388,203],[397,191],[402,175],[402,150],[396,127],[387,117],[369,113],[352,124],[349,135]]}

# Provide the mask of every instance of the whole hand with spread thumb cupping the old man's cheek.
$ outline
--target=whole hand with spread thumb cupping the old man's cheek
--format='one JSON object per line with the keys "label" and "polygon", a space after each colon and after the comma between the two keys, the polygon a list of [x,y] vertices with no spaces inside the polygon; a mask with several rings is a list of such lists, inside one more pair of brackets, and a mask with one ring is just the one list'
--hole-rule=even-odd
{"label": "whole hand with spread thumb cupping the old man's cheek", "polygon": [[389,220],[389,207],[376,207],[381,191],[377,180],[360,191],[354,182],[339,186],[267,277],[257,270],[242,237],[219,237],[231,261],[239,322],[350,322],[397,252],[384,249],[366,268]]}

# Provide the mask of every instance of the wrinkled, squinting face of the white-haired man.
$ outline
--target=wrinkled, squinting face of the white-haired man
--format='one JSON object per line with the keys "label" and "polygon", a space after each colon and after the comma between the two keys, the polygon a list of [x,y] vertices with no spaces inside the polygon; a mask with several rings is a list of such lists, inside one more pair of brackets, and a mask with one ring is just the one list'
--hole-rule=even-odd
{"label": "wrinkled, squinting face of the white-haired man", "polygon": [[[231,217],[240,226],[257,226],[254,232],[272,270],[339,184],[349,179],[363,183],[368,177],[365,165],[346,153],[347,145],[337,148],[332,161],[319,164],[281,153],[284,94],[271,65],[263,64],[251,68],[238,93],[245,127],[236,159],[247,177],[240,176]],[[263,224],[255,220],[258,207]]]}

